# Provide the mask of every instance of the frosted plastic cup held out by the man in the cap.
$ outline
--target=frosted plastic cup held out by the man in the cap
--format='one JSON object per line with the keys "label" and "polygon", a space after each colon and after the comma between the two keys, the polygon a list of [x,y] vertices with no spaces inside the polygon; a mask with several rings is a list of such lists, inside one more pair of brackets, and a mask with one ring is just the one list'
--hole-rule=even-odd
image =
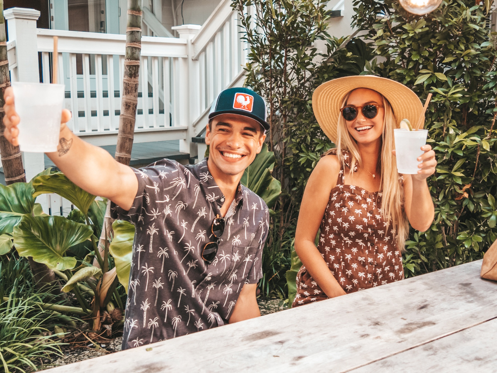
{"label": "frosted plastic cup held out by the man in the cap", "polygon": [[57,151],[61,128],[63,84],[12,83],[19,115],[19,148],[23,152]]}

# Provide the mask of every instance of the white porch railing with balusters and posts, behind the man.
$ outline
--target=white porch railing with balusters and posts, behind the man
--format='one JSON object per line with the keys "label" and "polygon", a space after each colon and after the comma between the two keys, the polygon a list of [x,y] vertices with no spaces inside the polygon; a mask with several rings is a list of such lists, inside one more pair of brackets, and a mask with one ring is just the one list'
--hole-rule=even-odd
{"label": "white porch railing with balusters and posts, behind the man", "polygon": [[[144,12],[145,33],[155,34],[157,19]],[[50,82],[58,36],[58,81],[66,86],[70,128],[95,145],[116,144],[126,35],[37,29],[38,17],[34,9],[5,10],[11,80]],[[179,38],[142,36],[135,142],[180,140],[179,151],[197,155],[191,137],[205,128],[214,98],[243,84],[247,46],[239,18],[231,0],[223,0],[202,27],[174,27]],[[25,154],[28,178],[43,165],[42,155]]]}

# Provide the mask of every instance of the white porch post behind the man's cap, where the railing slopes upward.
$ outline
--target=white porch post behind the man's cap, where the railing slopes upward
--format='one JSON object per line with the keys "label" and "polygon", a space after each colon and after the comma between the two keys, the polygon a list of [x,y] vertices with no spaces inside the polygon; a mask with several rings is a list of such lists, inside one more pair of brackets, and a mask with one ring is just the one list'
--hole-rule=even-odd
{"label": "white porch post behind the man's cap, where the railing slopes upward", "polygon": [[191,39],[195,36],[200,27],[200,25],[196,24],[184,24],[171,27],[171,29],[178,32],[181,39],[186,39],[188,41],[188,58],[186,61],[184,58],[179,59],[181,81],[179,82],[179,97],[177,98],[179,99],[179,102],[184,104],[184,106],[179,108],[179,125],[188,126],[186,140],[179,140],[179,151],[189,153],[190,157],[197,155],[197,147],[191,142],[191,137],[195,136],[192,120],[198,116],[198,113],[194,111],[198,108],[199,102],[198,61],[192,60],[194,53]]}

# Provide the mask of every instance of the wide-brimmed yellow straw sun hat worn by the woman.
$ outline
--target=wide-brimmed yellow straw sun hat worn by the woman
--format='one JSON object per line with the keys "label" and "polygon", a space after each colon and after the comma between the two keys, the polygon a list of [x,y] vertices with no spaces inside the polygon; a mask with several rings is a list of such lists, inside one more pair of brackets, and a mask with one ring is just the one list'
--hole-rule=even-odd
{"label": "wide-brimmed yellow straw sun hat worn by the woman", "polygon": [[356,88],[368,88],[382,94],[392,106],[399,128],[402,119],[409,119],[413,127],[423,111],[423,105],[417,95],[401,83],[374,75],[357,75],[333,79],[323,83],[314,91],[312,108],[319,125],[336,143],[338,116],[343,97]]}

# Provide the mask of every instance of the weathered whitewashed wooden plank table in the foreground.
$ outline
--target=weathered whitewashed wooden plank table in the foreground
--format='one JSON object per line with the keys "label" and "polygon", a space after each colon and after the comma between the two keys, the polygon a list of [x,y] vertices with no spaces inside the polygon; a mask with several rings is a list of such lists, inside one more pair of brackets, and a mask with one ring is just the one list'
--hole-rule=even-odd
{"label": "weathered whitewashed wooden plank table in the foreground", "polygon": [[464,264],[50,373],[496,372],[497,282],[480,278],[481,264]]}

